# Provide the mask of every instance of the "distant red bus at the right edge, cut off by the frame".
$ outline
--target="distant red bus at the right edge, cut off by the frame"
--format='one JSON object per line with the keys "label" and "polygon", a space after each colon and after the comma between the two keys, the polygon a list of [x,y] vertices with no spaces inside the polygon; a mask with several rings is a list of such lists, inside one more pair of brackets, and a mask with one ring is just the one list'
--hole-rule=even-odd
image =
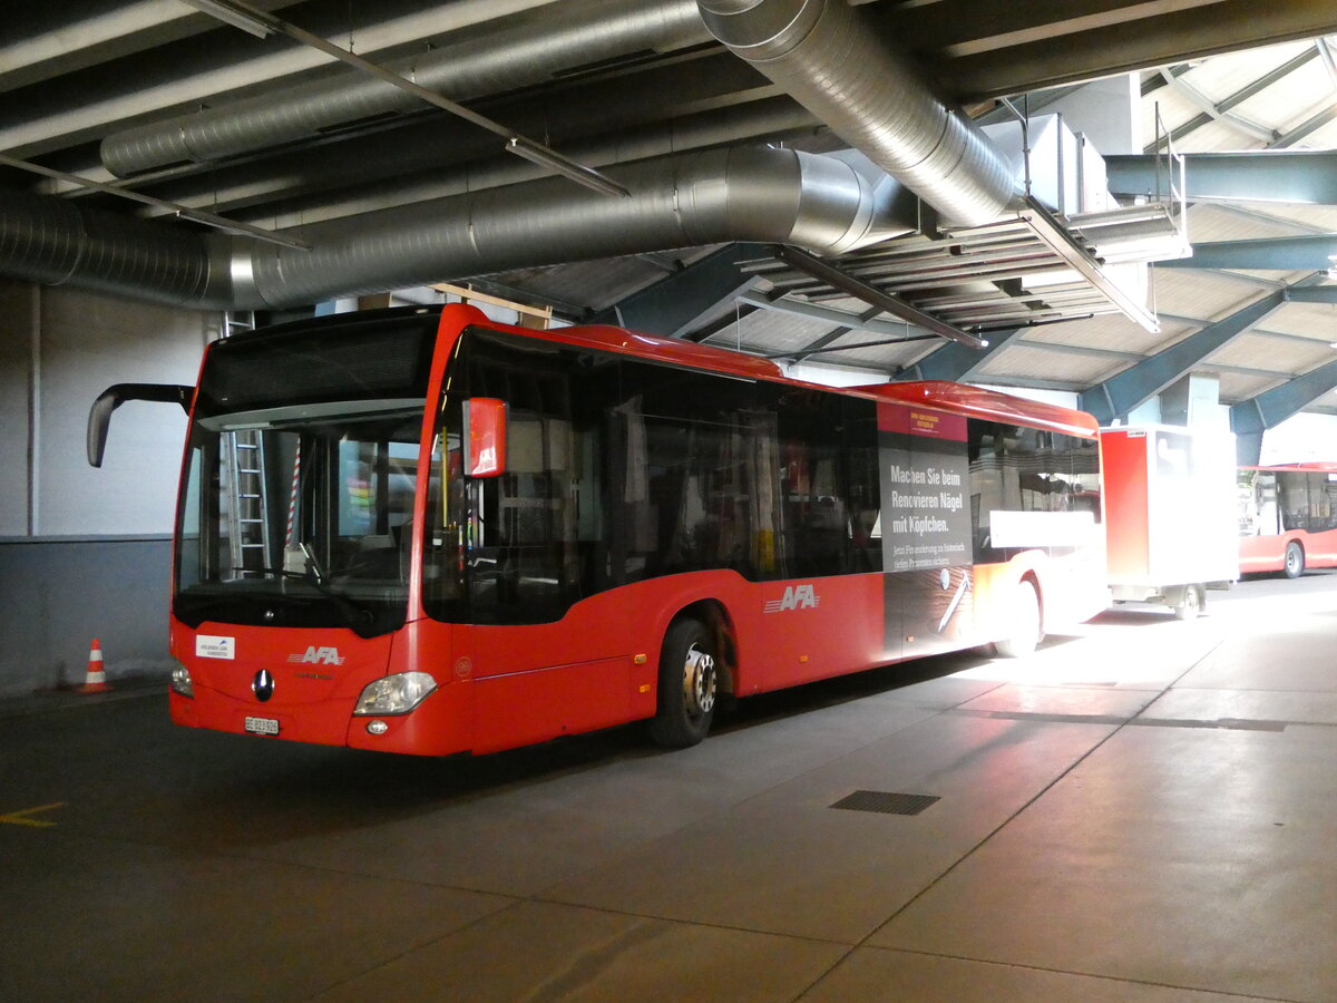
{"label": "distant red bus at the right edge, cut off by the frame", "polygon": [[1241,467],[1239,571],[1337,567],[1337,463]]}

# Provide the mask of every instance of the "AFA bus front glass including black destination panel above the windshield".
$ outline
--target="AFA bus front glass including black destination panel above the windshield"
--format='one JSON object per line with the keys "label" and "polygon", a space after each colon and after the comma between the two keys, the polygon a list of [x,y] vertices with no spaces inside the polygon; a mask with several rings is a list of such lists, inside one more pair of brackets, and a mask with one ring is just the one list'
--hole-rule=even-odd
{"label": "AFA bus front glass including black destination panel above the windshield", "polygon": [[368,313],[211,346],[178,511],[178,619],[404,625],[435,334],[427,314]]}

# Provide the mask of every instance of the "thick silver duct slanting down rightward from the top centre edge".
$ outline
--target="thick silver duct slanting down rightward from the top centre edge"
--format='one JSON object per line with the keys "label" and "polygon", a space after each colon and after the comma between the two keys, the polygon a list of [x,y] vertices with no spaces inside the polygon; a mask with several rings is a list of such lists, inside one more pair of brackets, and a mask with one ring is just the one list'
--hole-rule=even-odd
{"label": "thick silver duct slanting down rightward from the top centre edge", "polygon": [[1007,211],[1015,179],[984,134],[933,96],[845,0],[698,0],[711,33],[947,219]]}

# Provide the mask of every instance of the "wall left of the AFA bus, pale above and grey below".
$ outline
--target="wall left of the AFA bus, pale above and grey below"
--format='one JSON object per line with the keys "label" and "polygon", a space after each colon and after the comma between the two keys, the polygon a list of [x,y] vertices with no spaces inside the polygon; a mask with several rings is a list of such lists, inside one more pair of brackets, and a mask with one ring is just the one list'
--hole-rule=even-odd
{"label": "wall left of the AFA bus, pale above and grey below", "polygon": [[0,695],[166,674],[170,535],[186,416],[116,411],[100,469],[94,399],[115,382],[194,384],[222,317],[0,282]]}

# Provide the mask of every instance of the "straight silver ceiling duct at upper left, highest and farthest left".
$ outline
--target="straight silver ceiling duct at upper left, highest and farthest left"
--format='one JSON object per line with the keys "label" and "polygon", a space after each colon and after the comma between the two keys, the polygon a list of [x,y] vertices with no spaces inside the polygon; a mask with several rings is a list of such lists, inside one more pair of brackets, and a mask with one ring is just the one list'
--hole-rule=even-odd
{"label": "straight silver ceiling duct at upper left, highest and farthest left", "polygon": [[[583,0],[550,4],[515,27],[386,67],[452,100],[467,100],[548,83],[584,67],[706,41],[710,33],[694,0]],[[175,163],[207,163],[267,150],[352,123],[424,108],[418,98],[385,80],[342,74],[282,94],[115,132],[102,142],[102,162],[124,178]]]}

